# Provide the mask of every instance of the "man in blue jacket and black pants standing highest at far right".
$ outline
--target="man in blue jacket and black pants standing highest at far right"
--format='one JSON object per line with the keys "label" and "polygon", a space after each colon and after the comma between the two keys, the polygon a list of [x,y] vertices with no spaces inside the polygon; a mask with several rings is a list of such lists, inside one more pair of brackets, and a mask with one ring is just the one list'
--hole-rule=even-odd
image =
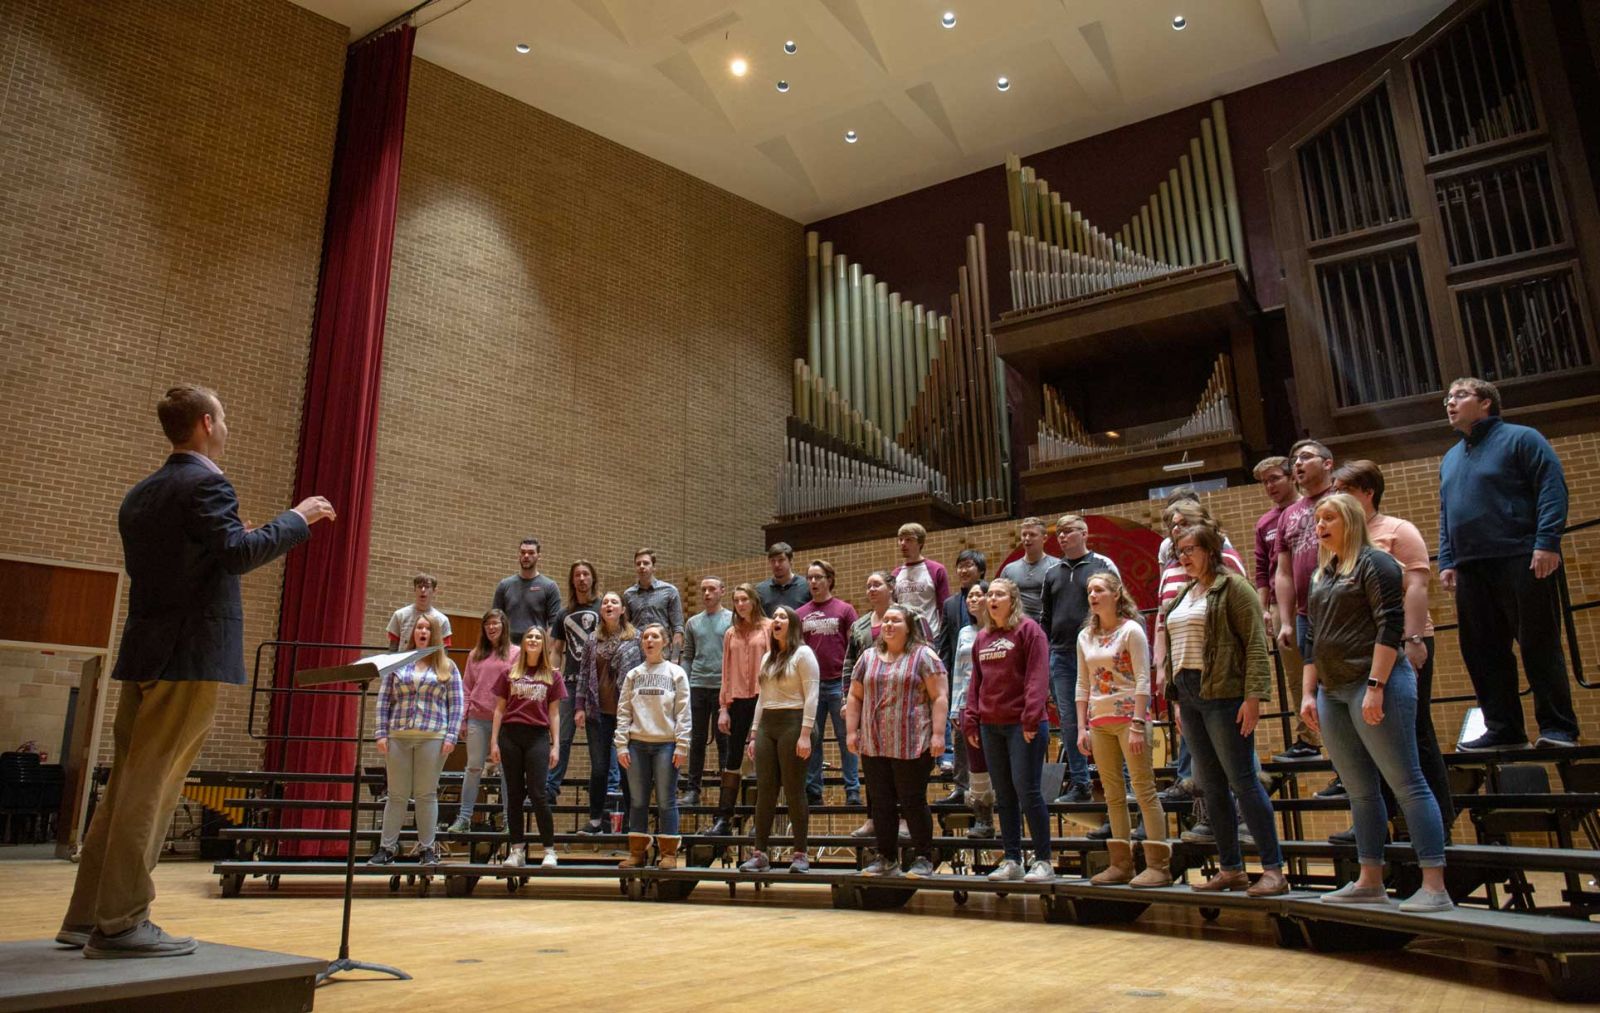
{"label": "man in blue jacket and black pants standing highest at far right", "polygon": [[1438,466],[1438,581],[1456,595],[1461,653],[1486,731],[1461,749],[1528,744],[1517,659],[1533,688],[1539,746],[1576,746],[1578,717],[1562,655],[1566,477],[1549,440],[1501,419],[1494,384],[1450,384],[1445,414],[1461,442]]}

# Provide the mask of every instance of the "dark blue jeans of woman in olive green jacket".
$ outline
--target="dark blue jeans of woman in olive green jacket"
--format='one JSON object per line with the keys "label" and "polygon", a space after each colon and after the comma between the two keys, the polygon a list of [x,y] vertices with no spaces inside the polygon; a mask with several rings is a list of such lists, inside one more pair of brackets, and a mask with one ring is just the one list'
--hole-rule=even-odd
{"label": "dark blue jeans of woman in olive green jacket", "polygon": [[[1235,872],[1245,867],[1238,850],[1238,816],[1243,813],[1250,835],[1261,850],[1261,864],[1277,869],[1283,864],[1278,829],[1272,823],[1272,802],[1256,778],[1256,736],[1238,733],[1242,696],[1227,699],[1200,698],[1200,671],[1181,669],[1178,683],[1178,715],[1194,757],[1195,783],[1205,795],[1216,834],[1218,864]],[[1229,794],[1232,787],[1234,794]],[[1234,808],[1234,800],[1238,808]]]}

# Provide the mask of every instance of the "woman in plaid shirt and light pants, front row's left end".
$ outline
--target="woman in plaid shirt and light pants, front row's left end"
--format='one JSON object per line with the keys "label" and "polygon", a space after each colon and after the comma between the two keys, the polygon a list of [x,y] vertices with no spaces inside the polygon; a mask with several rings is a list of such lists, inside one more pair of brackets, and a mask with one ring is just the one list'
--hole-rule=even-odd
{"label": "woman in plaid shirt and light pants, front row's left end", "polygon": [[[411,650],[437,642],[434,623],[419,616],[411,627]],[[456,747],[466,695],[461,672],[445,651],[437,651],[389,672],[378,685],[378,752],[384,755],[389,799],[384,802],[384,829],[378,850],[368,861],[387,866],[400,847],[408,799],[416,799],[418,861],[438,864],[434,834],[438,829],[438,771]]]}

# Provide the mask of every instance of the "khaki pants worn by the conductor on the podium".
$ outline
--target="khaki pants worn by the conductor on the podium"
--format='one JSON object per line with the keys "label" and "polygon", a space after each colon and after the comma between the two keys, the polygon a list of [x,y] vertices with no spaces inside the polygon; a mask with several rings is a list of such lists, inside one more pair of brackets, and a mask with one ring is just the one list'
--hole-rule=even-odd
{"label": "khaki pants worn by the conductor on the podium", "polygon": [[114,936],[150,917],[166,824],[216,715],[216,682],[123,682],[110,784],[94,810],[64,927]]}

